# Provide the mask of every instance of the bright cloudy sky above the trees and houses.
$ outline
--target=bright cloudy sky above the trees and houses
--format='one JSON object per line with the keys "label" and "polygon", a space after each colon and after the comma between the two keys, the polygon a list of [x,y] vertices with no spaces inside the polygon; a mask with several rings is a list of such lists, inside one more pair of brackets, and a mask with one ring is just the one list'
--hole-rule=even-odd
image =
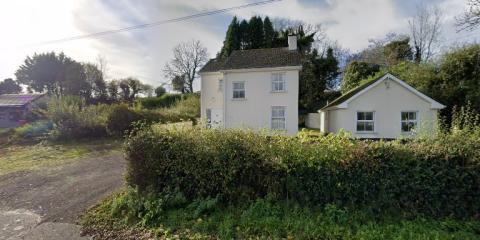
{"label": "bright cloudy sky above the trees and houses", "polygon": [[81,62],[108,62],[107,79],[136,77],[153,86],[167,82],[163,68],[178,43],[192,39],[208,49],[220,50],[234,15],[253,15],[321,24],[329,39],[352,52],[368,46],[368,40],[389,32],[408,33],[408,20],[419,4],[438,6],[442,20],[442,44],[480,42],[480,30],[457,33],[455,16],[466,0],[283,0],[184,22],[159,25],[86,38],[42,44],[47,41],[178,18],[205,11],[261,0],[15,0],[0,3],[0,80],[14,78],[27,56],[64,52]]}

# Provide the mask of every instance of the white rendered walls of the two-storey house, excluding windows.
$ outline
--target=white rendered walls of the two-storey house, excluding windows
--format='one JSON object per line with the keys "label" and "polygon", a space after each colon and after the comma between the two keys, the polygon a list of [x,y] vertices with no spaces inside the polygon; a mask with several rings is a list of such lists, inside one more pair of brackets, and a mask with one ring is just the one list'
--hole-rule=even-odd
{"label": "white rendered walls of the two-storey house, excluding windows", "polygon": [[[286,92],[271,92],[273,72],[283,72]],[[227,128],[270,129],[272,106],[286,107],[287,134],[298,132],[298,70],[255,69],[226,73],[203,73],[201,81],[201,116],[206,118],[207,108],[224,111]],[[218,90],[218,80],[224,79],[226,96]],[[245,82],[245,99],[233,99],[233,82]],[[226,100],[225,106],[223,104]]]}

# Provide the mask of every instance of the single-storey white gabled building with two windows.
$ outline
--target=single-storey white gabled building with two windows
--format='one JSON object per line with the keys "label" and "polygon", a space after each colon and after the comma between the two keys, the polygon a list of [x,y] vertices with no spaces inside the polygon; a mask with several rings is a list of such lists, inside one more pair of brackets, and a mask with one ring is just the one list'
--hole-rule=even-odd
{"label": "single-storey white gabled building with two windows", "polygon": [[392,74],[342,95],[319,110],[320,131],[343,129],[357,138],[403,138],[432,134],[445,106]]}

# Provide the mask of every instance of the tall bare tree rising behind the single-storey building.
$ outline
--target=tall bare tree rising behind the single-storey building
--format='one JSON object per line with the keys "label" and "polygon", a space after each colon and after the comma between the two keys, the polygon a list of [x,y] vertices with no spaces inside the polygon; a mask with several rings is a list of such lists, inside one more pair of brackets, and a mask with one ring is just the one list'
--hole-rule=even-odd
{"label": "tall bare tree rising behind the single-storey building", "polygon": [[408,21],[417,63],[426,62],[434,55],[440,37],[441,20],[439,8],[419,5],[415,16]]}

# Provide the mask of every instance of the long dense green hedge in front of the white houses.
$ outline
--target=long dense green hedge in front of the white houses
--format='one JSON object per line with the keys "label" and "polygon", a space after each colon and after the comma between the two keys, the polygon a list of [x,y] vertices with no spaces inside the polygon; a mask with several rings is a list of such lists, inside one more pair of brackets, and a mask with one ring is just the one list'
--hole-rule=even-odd
{"label": "long dense green hedge in front of the white houses", "polygon": [[433,216],[480,213],[480,130],[363,142],[154,126],[126,141],[127,182],[188,199],[258,197]]}

